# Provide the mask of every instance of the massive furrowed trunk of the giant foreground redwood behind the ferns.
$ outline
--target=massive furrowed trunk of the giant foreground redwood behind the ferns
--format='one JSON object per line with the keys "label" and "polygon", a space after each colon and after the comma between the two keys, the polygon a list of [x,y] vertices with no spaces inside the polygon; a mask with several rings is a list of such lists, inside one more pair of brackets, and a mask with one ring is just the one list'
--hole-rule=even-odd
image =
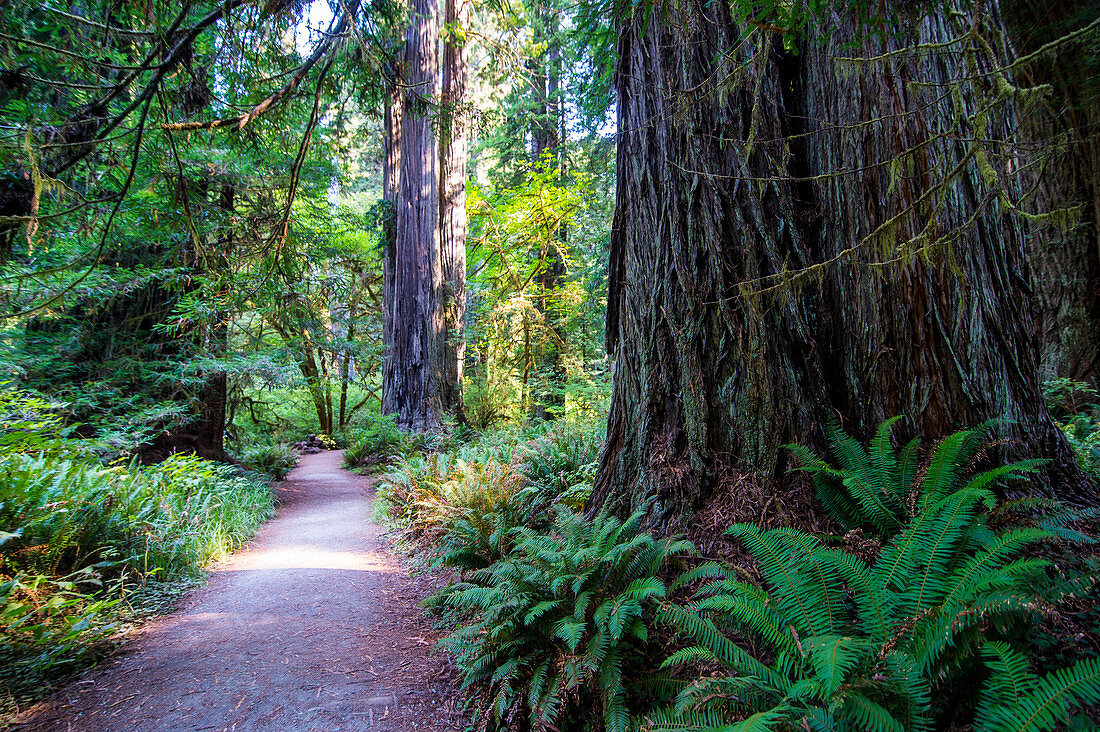
{"label": "massive furrowed trunk of the giant foreground redwood behind the ferns", "polygon": [[622,4],[593,505],[656,498],[660,523],[747,482],[779,495],[784,444],[892,415],[927,440],[1003,419],[1000,457],[1047,457],[1041,489],[1092,498],[1040,394],[1002,154],[1025,91],[996,8],[948,4],[805,39],[736,3]]}

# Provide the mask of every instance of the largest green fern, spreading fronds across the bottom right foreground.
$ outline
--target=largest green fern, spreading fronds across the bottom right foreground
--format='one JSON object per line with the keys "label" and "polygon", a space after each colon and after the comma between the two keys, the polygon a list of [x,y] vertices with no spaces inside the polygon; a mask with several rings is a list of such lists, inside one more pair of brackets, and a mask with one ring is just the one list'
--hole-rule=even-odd
{"label": "largest green fern, spreading fronds across the bottom right foreground", "polygon": [[[879,433],[888,435],[889,426]],[[647,714],[641,726],[920,732],[974,723],[1040,731],[1066,719],[1068,704],[1093,702],[1094,659],[1040,679],[1008,644],[1037,611],[1034,588],[1048,566],[1028,550],[1060,532],[990,526],[997,499],[988,473],[963,479],[948,465],[968,459],[972,439],[937,449],[938,476],[925,479],[915,515],[902,514],[871,562],[794,528],[730,527],[755,558],[762,586],[726,573],[692,602],[667,603],[660,615],[691,638],[667,666],[702,658],[726,674],[685,684],[672,706]],[[849,451],[856,457],[848,465],[877,466],[898,480],[902,460],[888,462],[880,449],[872,461],[871,454]],[[884,518],[884,511],[872,513],[883,501],[871,504],[867,485],[857,483],[838,492],[865,510],[851,515]],[[977,698],[968,697],[983,678]]]}

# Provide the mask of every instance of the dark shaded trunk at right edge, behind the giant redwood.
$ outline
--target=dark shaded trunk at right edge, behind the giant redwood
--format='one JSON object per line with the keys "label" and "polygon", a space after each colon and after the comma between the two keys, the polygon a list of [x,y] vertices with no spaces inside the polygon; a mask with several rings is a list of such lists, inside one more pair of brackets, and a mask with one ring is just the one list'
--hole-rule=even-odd
{"label": "dark shaded trunk at right edge, behind the giant redwood", "polygon": [[[1022,56],[1100,18],[1094,0],[1002,6]],[[1034,226],[1028,240],[1041,371],[1045,379],[1069,376],[1100,386],[1100,59],[1093,43],[1065,44],[1036,55],[1021,76],[1053,87],[1041,109],[1021,116],[1023,136],[1042,143],[1038,156],[1046,159],[1036,171],[1032,209],[1079,212],[1069,226]]]}

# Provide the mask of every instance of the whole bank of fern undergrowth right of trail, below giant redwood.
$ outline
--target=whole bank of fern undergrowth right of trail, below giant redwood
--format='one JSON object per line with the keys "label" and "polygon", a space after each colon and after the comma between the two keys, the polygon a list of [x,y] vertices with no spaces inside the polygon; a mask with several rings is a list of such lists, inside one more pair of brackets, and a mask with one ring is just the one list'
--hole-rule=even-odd
{"label": "whole bank of fern undergrowth right of trail, below giant redwood", "polygon": [[[1031,635],[1093,592],[1052,550],[1089,515],[997,496],[1041,461],[974,471],[987,426],[931,450],[834,430],[793,448],[847,532],[730,527],[754,564],[580,513],[594,434],[540,428],[398,461],[391,518],[459,570],[429,607],[482,729],[1052,730],[1100,702],[1100,660]],[[1081,726],[1084,725],[1084,726]]]}

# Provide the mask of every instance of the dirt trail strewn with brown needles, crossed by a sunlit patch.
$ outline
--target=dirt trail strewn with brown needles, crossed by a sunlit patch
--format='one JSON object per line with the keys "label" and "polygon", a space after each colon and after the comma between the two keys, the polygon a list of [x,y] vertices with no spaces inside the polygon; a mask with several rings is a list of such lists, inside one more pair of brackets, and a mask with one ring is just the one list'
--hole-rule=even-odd
{"label": "dirt trail strewn with brown needles, crossed by a sunlit patch", "polygon": [[278,516],[176,613],[19,730],[463,730],[454,673],[386,550],[371,481],[304,456]]}

